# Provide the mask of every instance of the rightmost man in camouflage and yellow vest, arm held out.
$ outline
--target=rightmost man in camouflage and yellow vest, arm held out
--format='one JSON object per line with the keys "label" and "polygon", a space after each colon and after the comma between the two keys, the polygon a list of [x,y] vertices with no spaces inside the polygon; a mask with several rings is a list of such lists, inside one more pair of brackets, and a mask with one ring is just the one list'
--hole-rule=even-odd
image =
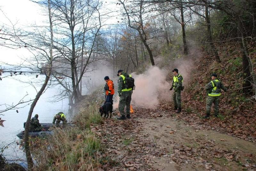
{"label": "rightmost man in camouflage and yellow vest, arm held out", "polygon": [[210,81],[205,89],[208,93],[208,98],[206,100],[206,115],[204,118],[210,117],[210,111],[212,107],[212,103],[214,103],[214,116],[217,117],[219,115],[219,97],[221,89],[225,92],[227,88],[222,84],[222,82],[217,79],[217,74],[213,73],[211,75],[212,81]]}

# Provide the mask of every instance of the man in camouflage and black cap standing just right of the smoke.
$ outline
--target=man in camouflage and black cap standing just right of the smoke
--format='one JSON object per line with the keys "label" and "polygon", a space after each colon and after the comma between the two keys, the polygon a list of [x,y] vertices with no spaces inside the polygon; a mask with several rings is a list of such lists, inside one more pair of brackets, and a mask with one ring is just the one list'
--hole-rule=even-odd
{"label": "man in camouflage and black cap standing just right of the smoke", "polygon": [[172,70],[173,72],[173,81],[172,81],[172,87],[170,90],[174,88],[174,93],[173,93],[173,102],[174,102],[174,110],[177,110],[176,113],[181,112],[181,96],[180,93],[183,90],[182,82],[183,78],[182,76],[178,73],[179,70],[177,68],[174,68]]}

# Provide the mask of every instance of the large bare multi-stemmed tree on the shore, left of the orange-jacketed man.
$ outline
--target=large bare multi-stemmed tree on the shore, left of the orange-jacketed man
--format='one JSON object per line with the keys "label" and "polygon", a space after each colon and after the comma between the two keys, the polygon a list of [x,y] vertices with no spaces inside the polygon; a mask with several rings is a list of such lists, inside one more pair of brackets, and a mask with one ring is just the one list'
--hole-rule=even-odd
{"label": "large bare multi-stemmed tree on the shore, left of the orange-jacketed man", "polygon": [[[66,90],[68,90],[69,104],[73,105],[80,100],[81,91],[79,83],[92,62],[95,40],[101,28],[98,1],[57,1],[54,4],[54,20],[58,29],[54,32],[61,35],[56,39],[53,48],[58,50],[62,56],[54,69],[55,77],[61,75],[65,79],[56,79]],[[96,15],[95,15],[96,14]],[[80,68],[80,74],[78,74]],[[71,80],[71,89],[69,81]],[[80,86],[81,87],[81,86]]]}

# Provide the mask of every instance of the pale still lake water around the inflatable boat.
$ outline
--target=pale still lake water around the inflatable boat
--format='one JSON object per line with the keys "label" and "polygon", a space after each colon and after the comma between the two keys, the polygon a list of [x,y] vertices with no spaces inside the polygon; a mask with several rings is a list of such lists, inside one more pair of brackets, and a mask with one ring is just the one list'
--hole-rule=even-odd
{"label": "pale still lake water around the inflatable boat", "polygon": [[[2,74],[1,77],[3,77],[4,74]],[[44,78],[45,75],[39,75],[38,78],[36,78],[35,74],[14,75],[12,77],[3,78],[0,81],[0,110],[5,109],[6,107],[2,104],[16,104],[26,94],[28,94],[28,96],[25,97],[24,101],[33,99],[36,96],[36,90],[39,91],[40,85],[42,85],[42,82],[40,81],[43,81]],[[21,83],[16,79],[20,79],[23,82],[37,82],[34,84],[36,90],[31,85]],[[36,103],[32,116],[38,114],[40,123],[51,123],[53,116],[60,111],[66,114],[68,121],[71,119],[68,115],[68,99],[55,103],[51,102],[53,98],[50,97],[58,94],[60,89],[60,86],[48,88]],[[25,153],[19,149],[19,146],[17,146],[15,142],[19,140],[16,134],[24,130],[23,123],[27,120],[29,108],[30,105],[18,109],[18,113],[16,110],[0,113],[4,114],[4,116],[0,115],[0,117],[2,117],[3,120],[6,120],[3,123],[4,127],[0,127],[0,148],[11,143],[9,148],[5,149],[3,153],[7,160],[18,159],[25,161]]]}

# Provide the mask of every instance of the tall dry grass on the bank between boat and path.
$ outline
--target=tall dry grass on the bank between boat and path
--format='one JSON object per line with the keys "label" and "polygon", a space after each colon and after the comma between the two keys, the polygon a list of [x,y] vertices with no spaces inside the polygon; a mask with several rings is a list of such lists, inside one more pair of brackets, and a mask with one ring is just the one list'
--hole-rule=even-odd
{"label": "tall dry grass on the bank between boat and path", "polygon": [[76,171],[100,167],[102,145],[90,125],[101,121],[98,107],[92,103],[74,118],[78,127],[56,128],[54,136],[36,141],[36,147],[31,146],[34,170]]}

